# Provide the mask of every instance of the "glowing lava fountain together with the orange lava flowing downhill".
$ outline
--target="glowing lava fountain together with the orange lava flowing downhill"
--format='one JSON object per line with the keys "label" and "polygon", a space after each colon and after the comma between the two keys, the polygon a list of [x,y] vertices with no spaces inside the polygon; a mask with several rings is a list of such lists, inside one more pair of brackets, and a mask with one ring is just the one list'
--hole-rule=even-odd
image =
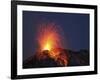
{"label": "glowing lava fountain together with the orange lava flowing downhill", "polygon": [[55,23],[42,23],[38,26],[37,41],[40,53],[38,57],[44,59],[44,51],[48,56],[57,62],[60,66],[67,66],[68,56],[63,51],[65,40],[63,31],[60,26]]}

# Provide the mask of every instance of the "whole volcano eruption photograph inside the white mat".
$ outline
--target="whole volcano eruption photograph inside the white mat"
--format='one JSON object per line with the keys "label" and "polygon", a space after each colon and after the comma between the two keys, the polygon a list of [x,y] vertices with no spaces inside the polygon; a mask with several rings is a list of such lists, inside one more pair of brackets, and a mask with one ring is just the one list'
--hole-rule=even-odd
{"label": "whole volcano eruption photograph inside the white mat", "polygon": [[89,21],[89,14],[24,10],[23,68],[90,65]]}

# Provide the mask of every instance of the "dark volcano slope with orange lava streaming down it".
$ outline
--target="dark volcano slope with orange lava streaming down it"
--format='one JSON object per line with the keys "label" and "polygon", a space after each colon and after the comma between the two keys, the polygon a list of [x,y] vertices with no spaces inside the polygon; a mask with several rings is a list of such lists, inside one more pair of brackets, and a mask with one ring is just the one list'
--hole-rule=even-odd
{"label": "dark volcano slope with orange lava streaming down it", "polygon": [[89,65],[89,51],[71,51],[67,49],[54,49],[36,52],[23,61],[23,68],[86,66]]}

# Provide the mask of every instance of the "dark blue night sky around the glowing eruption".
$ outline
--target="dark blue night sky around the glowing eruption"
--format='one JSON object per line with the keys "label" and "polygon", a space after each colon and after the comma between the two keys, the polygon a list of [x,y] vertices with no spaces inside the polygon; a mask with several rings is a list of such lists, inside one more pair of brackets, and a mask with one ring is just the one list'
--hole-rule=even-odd
{"label": "dark blue night sky around the glowing eruption", "polygon": [[35,53],[37,24],[54,22],[61,26],[67,38],[68,49],[89,49],[89,15],[23,11],[23,58]]}

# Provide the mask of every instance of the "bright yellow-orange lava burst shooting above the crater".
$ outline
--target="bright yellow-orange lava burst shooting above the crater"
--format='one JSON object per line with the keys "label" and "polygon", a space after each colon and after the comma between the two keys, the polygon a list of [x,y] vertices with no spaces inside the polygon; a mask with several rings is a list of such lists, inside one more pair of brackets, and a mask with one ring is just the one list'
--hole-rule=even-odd
{"label": "bright yellow-orange lava burst shooting above the crater", "polygon": [[63,38],[61,36],[58,26],[54,23],[47,23],[39,25],[38,43],[41,50],[52,50],[57,47],[62,47]]}

